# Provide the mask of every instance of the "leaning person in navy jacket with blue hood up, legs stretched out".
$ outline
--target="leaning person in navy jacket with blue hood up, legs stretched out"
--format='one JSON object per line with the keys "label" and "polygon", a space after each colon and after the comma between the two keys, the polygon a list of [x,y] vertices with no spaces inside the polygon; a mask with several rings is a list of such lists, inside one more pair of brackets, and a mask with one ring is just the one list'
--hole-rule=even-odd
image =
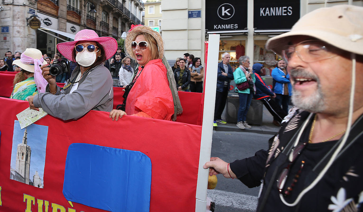
{"label": "leaning person in navy jacket with blue hood up, legs stretched out", "polygon": [[287,113],[281,109],[281,106],[278,105],[274,99],[271,97],[276,97],[276,94],[272,92],[272,90],[266,85],[265,81],[261,78],[261,69],[264,65],[260,63],[255,63],[252,66],[254,76],[256,78],[256,82],[254,85],[256,86],[256,94],[254,94],[253,98],[261,100],[264,103],[267,110],[273,116],[273,124],[280,127],[281,121],[287,115]]}

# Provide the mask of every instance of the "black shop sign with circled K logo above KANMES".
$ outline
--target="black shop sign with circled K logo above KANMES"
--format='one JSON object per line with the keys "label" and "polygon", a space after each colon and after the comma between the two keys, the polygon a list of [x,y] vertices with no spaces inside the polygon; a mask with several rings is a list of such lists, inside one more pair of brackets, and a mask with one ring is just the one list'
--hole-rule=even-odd
{"label": "black shop sign with circled K logo above KANMES", "polygon": [[208,31],[244,30],[247,27],[247,0],[205,1],[205,28]]}

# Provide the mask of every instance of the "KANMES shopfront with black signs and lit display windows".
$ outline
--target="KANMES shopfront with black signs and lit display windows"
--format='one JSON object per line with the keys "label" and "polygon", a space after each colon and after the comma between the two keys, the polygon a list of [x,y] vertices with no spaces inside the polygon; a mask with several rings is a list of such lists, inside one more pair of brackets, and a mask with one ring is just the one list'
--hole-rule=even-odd
{"label": "KANMES shopfront with black signs and lit display windows", "polygon": [[306,13],[338,4],[363,6],[363,1],[280,0],[272,3],[270,0],[209,0],[205,5],[209,11],[205,31],[207,35],[220,34],[219,62],[221,55],[228,52],[230,64],[238,67],[238,58],[247,55],[251,64],[263,64],[265,74],[270,75],[279,55],[265,48],[267,40],[290,31]]}

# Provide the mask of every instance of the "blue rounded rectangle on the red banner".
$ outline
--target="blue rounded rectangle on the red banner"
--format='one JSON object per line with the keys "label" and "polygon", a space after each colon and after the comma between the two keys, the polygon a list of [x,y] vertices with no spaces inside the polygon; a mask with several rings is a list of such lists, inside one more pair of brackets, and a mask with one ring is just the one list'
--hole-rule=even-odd
{"label": "blue rounded rectangle on the red banner", "polygon": [[105,211],[150,208],[151,160],[144,153],[93,144],[69,145],[63,195]]}

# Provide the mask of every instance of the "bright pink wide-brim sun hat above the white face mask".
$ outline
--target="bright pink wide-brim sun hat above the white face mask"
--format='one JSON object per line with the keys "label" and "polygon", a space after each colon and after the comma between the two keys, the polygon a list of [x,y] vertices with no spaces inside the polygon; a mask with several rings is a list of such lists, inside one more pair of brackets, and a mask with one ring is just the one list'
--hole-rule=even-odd
{"label": "bright pink wide-brim sun hat above the white face mask", "polygon": [[106,52],[106,60],[110,59],[117,51],[117,41],[115,38],[111,37],[98,37],[98,34],[90,29],[82,29],[76,36],[74,36],[74,41],[58,43],[58,51],[67,59],[76,62],[72,58],[72,52],[74,46],[79,41],[96,41],[103,46]]}

